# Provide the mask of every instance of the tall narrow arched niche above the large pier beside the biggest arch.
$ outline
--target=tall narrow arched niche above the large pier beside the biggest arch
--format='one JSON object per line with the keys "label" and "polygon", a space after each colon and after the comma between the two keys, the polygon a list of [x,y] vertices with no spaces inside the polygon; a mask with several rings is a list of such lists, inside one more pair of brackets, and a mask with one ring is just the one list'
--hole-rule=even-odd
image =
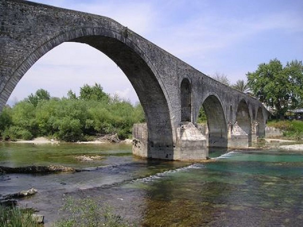
{"label": "tall narrow arched niche above the large pier beside the biggest arch", "polygon": [[181,121],[191,121],[191,84],[184,78],[180,86],[181,92]]}

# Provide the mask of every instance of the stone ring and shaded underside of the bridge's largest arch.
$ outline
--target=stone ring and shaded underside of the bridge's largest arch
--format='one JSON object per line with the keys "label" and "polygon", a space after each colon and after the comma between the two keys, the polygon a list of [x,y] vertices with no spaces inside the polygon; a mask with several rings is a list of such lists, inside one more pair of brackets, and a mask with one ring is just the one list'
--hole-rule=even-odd
{"label": "stone ring and shaded underside of the bridge's largest arch", "polygon": [[[16,70],[8,76],[3,91],[12,93],[12,89],[27,72],[27,70],[45,53],[63,42],[80,42],[92,46],[112,59],[125,73],[134,87],[145,112],[148,126],[148,157],[173,159],[173,136],[168,99],[162,89],[162,82],[158,80],[154,66],[145,57],[143,51],[131,39],[121,35],[120,31],[105,28],[71,28],[69,31],[56,31],[53,36],[46,36],[48,41],[35,51],[22,53],[24,61],[17,63]],[[85,80],[83,80],[85,83]],[[5,92],[0,93],[0,99],[8,100]],[[151,146],[152,145],[152,146]],[[157,148],[154,148],[157,147]],[[151,151],[165,147],[157,157]]]}

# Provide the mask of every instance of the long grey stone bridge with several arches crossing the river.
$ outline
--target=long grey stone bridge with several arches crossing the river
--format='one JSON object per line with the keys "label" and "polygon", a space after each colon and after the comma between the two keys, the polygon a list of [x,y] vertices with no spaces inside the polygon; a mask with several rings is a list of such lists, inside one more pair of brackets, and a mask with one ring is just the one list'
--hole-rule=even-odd
{"label": "long grey stone bridge with several arches crossing the river", "polygon": [[[0,110],[26,71],[63,42],[100,50],[132,83],[147,122],[134,126],[134,154],[203,159],[208,145],[248,147],[265,134],[268,112],[258,100],[211,79],[118,22],[21,0],[0,0]],[[207,134],[195,124],[201,105]]]}

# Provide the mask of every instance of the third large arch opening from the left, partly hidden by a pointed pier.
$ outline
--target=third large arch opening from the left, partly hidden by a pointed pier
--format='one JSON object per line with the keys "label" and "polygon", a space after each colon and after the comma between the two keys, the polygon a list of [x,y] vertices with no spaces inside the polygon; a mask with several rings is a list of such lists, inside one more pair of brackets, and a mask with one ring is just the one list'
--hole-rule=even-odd
{"label": "third large arch opening from the left, partly hidden by a pointed pier", "polygon": [[[238,134],[241,134],[242,137],[247,139],[248,146],[251,146],[252,135],[251,135],[251,116],[248,109],[248,104],[244,99],[242,99],[238,104],[238,109],[236,113],[236,124],[238,126]],[[236,128],[237,130],[237,128]],[[241,143],[242,138],[239,138],[239,144]],[[247,145],[246,145],[247,146]]]}

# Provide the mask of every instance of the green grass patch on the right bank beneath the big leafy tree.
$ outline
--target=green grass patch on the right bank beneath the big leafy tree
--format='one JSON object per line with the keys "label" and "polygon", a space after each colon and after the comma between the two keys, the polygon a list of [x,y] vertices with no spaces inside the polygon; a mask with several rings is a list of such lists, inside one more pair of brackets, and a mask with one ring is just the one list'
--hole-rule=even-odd
{"label": "green grass patch on the right bank beneath the big leafy tree", "polygon": [[283,135],[288,138],[300,140],[303,138],[303,121],[302,120],[271,120],[267,126],[283,130]]}

